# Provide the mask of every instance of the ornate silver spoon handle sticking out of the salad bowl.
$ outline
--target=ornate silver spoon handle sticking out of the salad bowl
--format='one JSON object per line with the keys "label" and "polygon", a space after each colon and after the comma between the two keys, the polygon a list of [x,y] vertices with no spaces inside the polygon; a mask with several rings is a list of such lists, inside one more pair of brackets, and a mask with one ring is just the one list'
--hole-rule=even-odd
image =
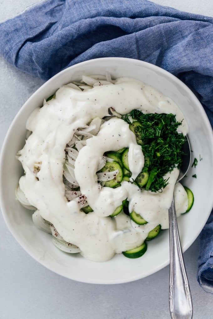
{"label": "ornate silver spoon handle sticking out of the salad bowl", "polygon": [[180,245],[174,197],[169,209],[170,284],[169,306],[172,319],[190,319],[192,298]]}

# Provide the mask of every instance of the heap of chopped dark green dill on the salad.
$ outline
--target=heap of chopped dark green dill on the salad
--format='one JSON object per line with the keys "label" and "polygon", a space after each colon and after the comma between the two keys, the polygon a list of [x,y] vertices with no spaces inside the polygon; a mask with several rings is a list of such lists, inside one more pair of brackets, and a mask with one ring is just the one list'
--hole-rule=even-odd
{"label": "heap of chopped dark green dill on the salad", "polygon": [[177,131],[181,122],[173,114],[143,114],[136,109],[122,118],[130,124],[146,159],[144,169],[148,168],[149,180],[145,189],[162,191],[168,184],[164,175],[174,167],[180,168],[182,163],[182,145],[186,139]]}

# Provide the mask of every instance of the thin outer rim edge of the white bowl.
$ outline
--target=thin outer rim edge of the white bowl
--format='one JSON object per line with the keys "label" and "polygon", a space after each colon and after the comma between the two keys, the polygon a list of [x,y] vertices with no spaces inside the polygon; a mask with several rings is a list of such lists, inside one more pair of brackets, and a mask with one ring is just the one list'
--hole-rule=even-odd
{"label": "thin outer rim edge of the white bowl", "polygon": [[[50,78],[49,80],[47,80],[45,83],[43,83],[27,100],[26,102],[21,106],[21,108],[19,109],[19,111],[17,112],[17,114],[15,115],[14,119],[12,120],[10,126],[9,126],[9,129],[7,130],[7,133],[4,137],[4,141],[3,141],[3,145],[2,145],[2,149],[1,149],[1,152],[0,152],[0,207],[1,207],[1,211],[2,211],[2,215],[3,215],[3,218],[4,218],[4,221],[9,229],[9,231],[11,232],[11,234],[13,235],[13,237],[16,239],[16,241],[18,241],[19,245],[31,256],[33,257],[37,262],[41,263],[43,266],[45,266],[46,268],[48,268],[49,270],[59,274],[59,275],[63,275],[63,273],[61,273],[60,271],[55,271],[54,269],[51,269],[51,267],[47,267],[45,265],[45,263],[42,263],[41,260],[39,260],[38,258],[36,258],[30,249],[28,249],[28,247],[26,247],[26,245],[23,245],[23,242],[20,243],[20,238],[17,234],[17,232],[15,231],[15,229],[10,225],[10,220],[9,220],[9,217],[7,215],[7,209],[6,209],[6,205],[4,203],[4,198],[3,198],[3,192],[2,192],[2,188],[3,188],[3,179],[2,179],[2,170],[3,170],[3,158],[4,158],[4,153],[5,153],[5,149],[6,149],[6,146],[7,146],[7,143],[8,143],[8,140],[10,139],[10,135],[11,135],[11,130],[12,130],[12,127],[14,125],[14,123],[16,122],[17,118],[20,116],[20,114],[22,112],[25,111],[25,108],[27,107],[27,105],[29,104],[29,102],[34,99],[34,96],[38,95],[40,92],[42,92],[44,90],[44,88],[46,86],[49,85],[50,82],[54,81],[55,79],[59,78],[59,77],[63,77],[64,74],[66,73],[70,73],[70,70],[71,70],[71,74],[72,74],[72,71],[75,70],[75,69],[78,69],[79,65],[87,65],[89,63],[95,63],[96,61],[114,61],[114,63],[116,61],[120,61],[120,62],[130,62],[130,63],[139,63],[141,66],[144,66],[144,67],[148,67],[149,69],[152,69],[152,70],[158,70],[161,74],[165,75],[167,78],[171,78],[173,79],[174,81],[178,81],[180,83],[180,85],[184,88],[185,91],[187,91],[188,93],[190,93],[190,95],[192,95],[193,99],[196,100],[197,103],[199,103],[201,105],[201,109],[200,111],[202,112],[202,116],[203,118],[205,119],[205,122],[206,122],[206,130],[208,130],[208,133],[209,133],[209,138],[211,140],[211,143],[213,145],[213,131],[212,131],[212,127],[211,127],[211,124],[209,122],[209,118],[201,104],[201,102],[198,100],[198,98],[195,96],[195,94],[187,87],[187,85],[185,83],[183,83],[179,78],[177,78],[176,76],[174,76],[173,74],[171,74],[170,72],[154,65],[154,64],[151,64],[151,63],[148,63],[148,62],[145,62],[145,61],[141,61],[141,60],[137,60],[137,59],[132,59],[132,58],[122,58],[122,57],[103,57],[103,58],[96,58],[96,59],[90,59],[90,60],[87,60],[87,61],[83,61],[83,62],[80,62],[80,63],[77,63],[77,64],[74,64],[60,72],[58,72],[57,74],[55,74],[52,78]],[[211,203],[211,204],[210,204]],[[211,201],[209,201],[209,214],[207,216],[206,219],[203,220],[203,223],[201,225],[201,230],[200,232],[202,231],[202,228],[203,226],[205,225],[206,221],[208,220],[208,217],[211,213],[211,209],[212,209],[212,206],[213,206],[213,198]],[[192,243],[194,242],[194,240],[199,236],[200,233],[198,234],[195,234],[195,236],[192,238],[192,240],[190,242],[188,242],[184,247],[183,247],[183,252],[186,251],[186,249],[188,249]],[[94,283],[94,284],[118,284],[118,283],[125,283],[125,282],[131,282],[131,281],[134,281],[134,280],[138,280],[138,279],[141,279],[141,278],[144,278],[146,276],[149,276],[161,269],[163,269],[165,266],[167,266],[169,264],[169,261],[166,261],[164,262],[161,266],[159,266],[154,272],[153,271],[148,271],[147,274],[145,276],[140,276],[140,275],[137,275],[137,276],[130,276],[128,277],[126,280],[123,279],[123,280],[118,280],[118,281],[115,281],[115,280],[112,280],[112,281],[105,281],[105,280],[88,280],[86,281],[85,279],[82,280],[82,282],[85,282],[85,283]],[[65,276],[66,278],[68,278],[67,276]],[[80,278],[78,279],[75,279],[75,278],[69,278],[69,279],[72,279],[72,280],[77,280],[77,281],[81,281]]]}

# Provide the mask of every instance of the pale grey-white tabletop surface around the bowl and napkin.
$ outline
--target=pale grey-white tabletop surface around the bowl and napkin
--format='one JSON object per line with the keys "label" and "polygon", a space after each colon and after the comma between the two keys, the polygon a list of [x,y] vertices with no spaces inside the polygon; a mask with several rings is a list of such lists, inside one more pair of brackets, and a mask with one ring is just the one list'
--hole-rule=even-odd
{"label": "pale grey-white tabletop surface around the bowl and napkin", "polygon": [[[14,17],[39,0],[0,1],[0,21]],[[182,11],[213,16],[212,0],[156,0]],[[11,121],[27,98],[43,84],[0,56],[0,147]],[[1,319],[166,319],[169,313],[169,266],[141,280],[92,285],[61,277],[30,257],[16,242],[0,214]],[[213,318],[213,295],[199,286],[199,239],[184,253],[194,319]]]}

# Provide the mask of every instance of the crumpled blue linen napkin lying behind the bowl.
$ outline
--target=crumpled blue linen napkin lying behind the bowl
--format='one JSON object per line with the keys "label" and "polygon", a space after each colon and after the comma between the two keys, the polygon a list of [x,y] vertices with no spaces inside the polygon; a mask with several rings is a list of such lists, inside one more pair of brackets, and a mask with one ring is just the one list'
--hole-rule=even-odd
{"label": "crumpled blue linen napkin lying behind the bowl", "polygon": [[[171,72],[213,126],[213,18],[144,0],[47,0],[0,24],[0,53],[44,80],[88,59],[129,57]],[[200,235],[198,282],[213,293],[213,212]]]}

